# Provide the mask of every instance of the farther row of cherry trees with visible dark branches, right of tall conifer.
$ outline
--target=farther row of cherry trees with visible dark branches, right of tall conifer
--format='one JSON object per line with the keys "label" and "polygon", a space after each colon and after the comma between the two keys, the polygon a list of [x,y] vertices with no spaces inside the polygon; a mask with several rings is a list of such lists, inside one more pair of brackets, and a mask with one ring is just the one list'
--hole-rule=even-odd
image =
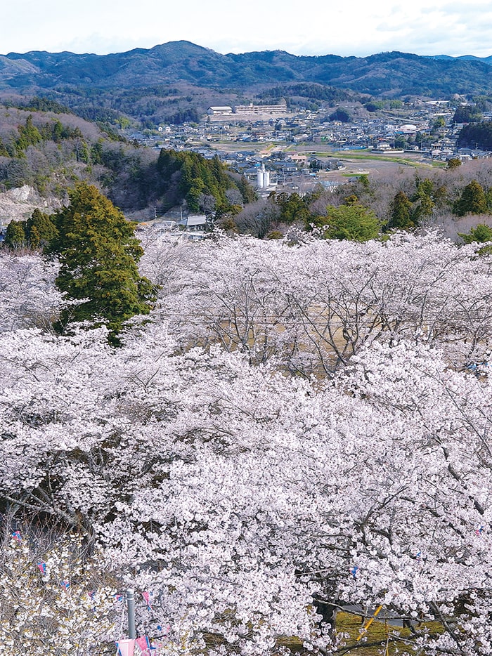
{"label": "farther row of cherry trees with visible dark branches, right of tall conifer", "polygon": [[287,244],[148,244],[143,271],[159,274],[162,315],[182,348],[220,343],[307,376],[332,375],[375,340],[424,335],[456,367],[490,351],[491,259],[476,247],[435,233]]}

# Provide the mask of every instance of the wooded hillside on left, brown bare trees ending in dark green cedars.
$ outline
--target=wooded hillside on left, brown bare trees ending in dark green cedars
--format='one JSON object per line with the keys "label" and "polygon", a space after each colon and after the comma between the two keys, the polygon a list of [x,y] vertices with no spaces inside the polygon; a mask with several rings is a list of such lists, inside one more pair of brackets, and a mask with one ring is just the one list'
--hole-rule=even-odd
{"label": "wooded hillside on left, brown bare trees ending in dark green cedars", "polygon": [[254,196],[216,159],[172,151],[160,156],[56,103],[34,98],[31,105],[0,105],[1,190],[31,185],[56,205],[84,180],[99,185],[124,211],[152,209],[152,214],[154,206],[162,212],[183,202],[192,211],[224,210]]}

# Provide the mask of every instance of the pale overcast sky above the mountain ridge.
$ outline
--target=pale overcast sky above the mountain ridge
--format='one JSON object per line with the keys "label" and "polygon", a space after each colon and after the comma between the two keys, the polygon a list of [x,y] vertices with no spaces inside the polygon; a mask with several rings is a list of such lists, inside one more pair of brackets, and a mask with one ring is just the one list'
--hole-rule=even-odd
{"label": "pale overcast sky above the mountain ridge", "polygon": [[3,0],[0,53],[114,53],[193,41],[219,53],[492,55],[490,0]]}

